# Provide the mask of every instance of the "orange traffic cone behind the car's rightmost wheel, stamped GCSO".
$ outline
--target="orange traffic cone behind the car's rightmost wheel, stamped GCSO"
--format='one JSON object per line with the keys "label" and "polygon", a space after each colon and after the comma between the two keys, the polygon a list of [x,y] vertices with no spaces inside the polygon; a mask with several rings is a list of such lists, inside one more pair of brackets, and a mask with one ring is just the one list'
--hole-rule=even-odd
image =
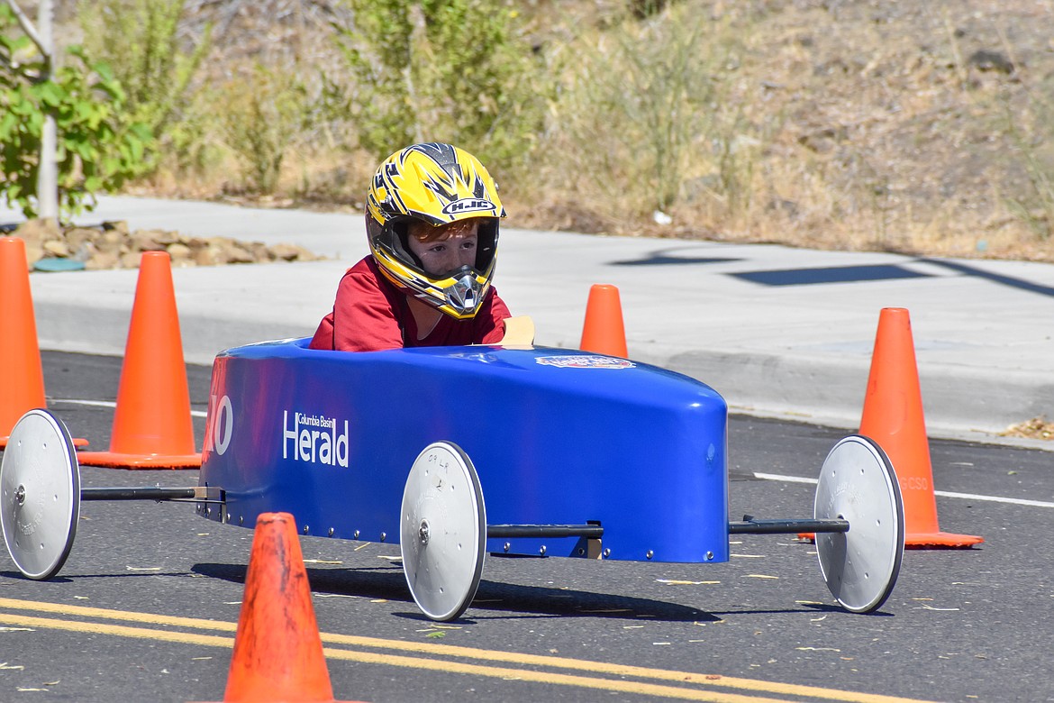
{"label": "orange traffic cone behind the car's rightmost wheel, stamped GCSO", "polygon": [[905,546],[970,547],[984,541],[941,532],[937,525],[912,324],[903,308],[884,308],[879,315],[860,434],[881,445],[893,463],[904,500]]}

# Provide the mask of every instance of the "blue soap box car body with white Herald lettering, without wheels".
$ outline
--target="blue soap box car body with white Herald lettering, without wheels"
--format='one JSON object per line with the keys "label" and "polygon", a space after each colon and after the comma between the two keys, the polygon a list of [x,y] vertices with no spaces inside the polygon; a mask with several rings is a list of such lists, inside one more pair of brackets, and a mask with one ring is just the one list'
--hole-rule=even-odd
{"label": "blue soap box car body with white Herald lettering, without wheels", "polygon": [[[305,534],[398,541],[407,472],[429,444],[471,457],[492,524],[598,524],[616,560],[728,559],[724,399],[687,376],[546,348],[378,352],[306,339],[213,367],[200,483],[210,516],[295,515]],[[491,552],[585,556],[581,539],[491,539]]]}

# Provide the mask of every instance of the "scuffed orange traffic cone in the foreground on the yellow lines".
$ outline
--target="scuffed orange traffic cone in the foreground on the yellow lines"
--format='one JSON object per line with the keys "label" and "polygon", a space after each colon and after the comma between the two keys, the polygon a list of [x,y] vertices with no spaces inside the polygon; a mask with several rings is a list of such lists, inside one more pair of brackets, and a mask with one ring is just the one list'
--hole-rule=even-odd
{"label": "scuffed orange traffic cone in the foreground on the yellow lines", "polygon": [[296,523],[288,512],[256,519],[223,701],[333,703]]}

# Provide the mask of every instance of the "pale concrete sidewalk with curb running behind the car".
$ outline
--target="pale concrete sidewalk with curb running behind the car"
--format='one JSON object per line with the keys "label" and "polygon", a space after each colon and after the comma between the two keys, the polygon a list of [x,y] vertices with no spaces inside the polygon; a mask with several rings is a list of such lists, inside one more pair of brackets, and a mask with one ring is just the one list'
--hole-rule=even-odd
{"label": "pale concrete sidewalk with curb running behind the car", "polygon": [[[19,219],[0,208],[0,222]],[[344,270],[368,251],[360,214],[103,197],[78,218],[104,219],[331,257],[175,270],[184,355],[196,364],[311,334]],[[613,284],[630,357],[704,380],[734,411],[856,428],[879,312],[902,307],[932,436],[999,441],[1008,425],[1054,417],[1054,266],[502,232],[495,286],[514,314],[533,317],[539,345],[578,347],[589,287]],[[136,276],[33,274],[41,348],[123,353]]]}

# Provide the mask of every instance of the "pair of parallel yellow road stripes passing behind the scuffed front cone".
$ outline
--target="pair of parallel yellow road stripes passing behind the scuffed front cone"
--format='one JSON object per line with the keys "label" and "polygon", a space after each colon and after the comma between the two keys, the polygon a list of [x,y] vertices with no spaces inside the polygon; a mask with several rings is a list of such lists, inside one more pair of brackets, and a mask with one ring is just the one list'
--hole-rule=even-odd
{"label": "pair of parallel yellow road stripes passing behind the scuffed front cone", "polygon": [[[196,629],[211,629],[225,632],[234,632],[237,629],[237,625],[235,623],[225,622],[225,621],[202,620],[197,618],[178,618],[172,616],[160,616],[160,614],[152,614],[145,612],[110,610],[104,608],[93,608],[93,607],[77,606],[77,605],[63,605],[58,603],[46,603],[38,601],[21,601],[21,600],[4,599],[4,598],[0,598],[0,607],[18,609],[18,610],[36,610],[40,612],[53,612],[59,614],[78,616],[85,618],[122,620],[122,621],[139,622],[153,625],[169,625],[169,626],[196,628]],[[4,613],[0,613],[0,620],[2,621],[13,622],[13,620],[17,620],[19,618],[22,617],[7,616]],[[109,628],[108,630],[105,630],[106,632],[123,637],[151,637],[153,639],[160,639],[173,642],[183,642],[188,644],[202,644],[207,646],[229,647],[233,642],[233,640],[230,640],[228,638],[221,638],[215,636],[189,634],[180,632],[169,632],[165,630],[153,630],[153,629],[140,629],[140,628],[122,628],[120,626],[113,626],[113,625],[75,623],[71,621],[61,621],[61,620],[46,620],[46,619],[33,619],[33,618],[30,618],[28,620],[40,620],[42,623],[52,623],[51,625],[38,623],[38,626],[40,627],[75,629],[77,631],[100,631],[100,632],[102,632],[103,630],[94,630],[87,628],[92,627]],[[140,634],[125,634],[123,633],[124,631],[139,632]],[[192,639],[179,639],[179,638],[192,638]],[[198,641],[193,638],[201,638],[201,640]],[[485,661],[512,663],[526,666],[543,666],[551,668],[577,669],[580,671],[587,671],[590,673],[603,673],[603,675],[618,676],[618,677],[635,677],[639,679],[652,679],[659,681],[676,681],[680,683],[695,684],[695,685],[735,688],[741,690],[754,690],[767,695],[777,695],[777,696],[806,697],[811,699],[823,698],[834,701],[843,701],[845,703],[919,703],[916,702],[914,699],[880,696],[875,694],[860,694],[856,691],[820,688],[817,686],[804,686],[798,684],[756,681],[752,679],[738,679],[734,677],[694,673],[688,671],[652,669],[641,666],[609,664],[606,662],[567,659],[563,657],[524,655],[524,653],[516,653],[509,651],[494,651],[489,649],[480,649],[475,647],[462,647],[456,645],[444,645],[444,644],[422,643],[422,642],[404,642],[399,640],[384,640],[379,638],[337,634],[329,632],[321,632],[320,638],[324,643],[332,643],[339,645],[411,651],[431,657],[436,657],[436,656],[455,657],[462,659],[479,659]],[[223,644],[220,645],[219,643]],[[558,676],[553,673],[547,673],[544,676],[541,673],[536,675],[536,672],[528,671],[525,669],[502,669],[495,667],[483,667],[479,665],[458,664],[454,662],[437,661],[437,660],[423,660],[419,658],[407,658],[394,655],[349,652],[348,650],[345,649],[327,648],[326,653],[327,656],[332,657],[334,659],[352,659],[353,661],[359,661],[359,662],[385,663],[394,666],[410,666],[415,668],[434,668],[437,670],[445,670],[445,671],[454,670],[455,668],[461,669],[461,667],[467,667],[464,670],[462,670],[462,672],[475,673],[477,676],[499,676],[501,678],[515,678],[515,679],[524,679],[531,681],[533,680],[552,681],[553,677]],[[495,671],[501,673],[493,673]],[[535,679],[533,678],[535,675],[542,676],[543,678]],[[564,675],[559,675],[559,676],[564,676]],[[573,680],[579,683],[573,683],[573,684],[569,683],[567,685],[584,685],[580,682],[580,680],[603,681],[596,679],[583,679],[581,677],[569,677],[569,680]],[[628,685],[629,682],[617,682],[617,683]],[[653,684],[642,684],[642,685],[650,686]],[[660,686],[660,688],[668,688],[668,687]],[[623,687],[618,688],[618,690],[623,690],[626,692],[635,692]],[[684,698],[684,691],[688,689],[671,688],[671,690],[679,691],[677,697]],[[659,691],[649,691],[647,695],[669,697],[668,695],[661,694]],[[688,700],[710,700],[710,699],[691,698]],[[728,699],[725,697],[715,700],[730,701],[735,699]],[[753,703],[759,703],[764,699],[748,698],[745,700],[749,700]]]}

